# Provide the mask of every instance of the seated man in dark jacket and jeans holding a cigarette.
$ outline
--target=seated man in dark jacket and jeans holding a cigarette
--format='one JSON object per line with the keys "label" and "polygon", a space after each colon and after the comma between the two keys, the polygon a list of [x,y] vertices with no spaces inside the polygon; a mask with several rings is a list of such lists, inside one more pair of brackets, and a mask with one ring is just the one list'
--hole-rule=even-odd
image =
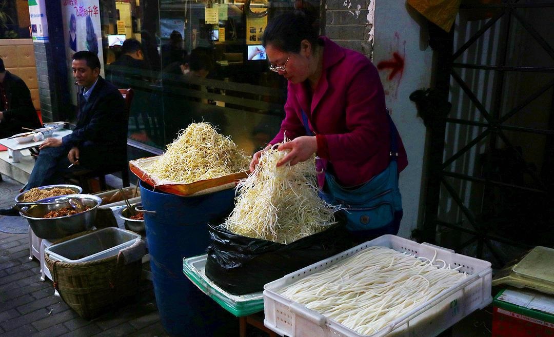
{"label": "seated man in dark jacket and jeans holding a cigarette", "polygon": [[[127,162],[125,103],[119,90],[100,76],[100,60],[88,51],[73,55],[73,76],[79,90],[78,115],[73,133],[62,139],[47,138],[23,191],[63,182],[63,173],[104,170]],[[75,164],[71,169],[71,164]],[[13,208],[0,215],[18,215]]]}

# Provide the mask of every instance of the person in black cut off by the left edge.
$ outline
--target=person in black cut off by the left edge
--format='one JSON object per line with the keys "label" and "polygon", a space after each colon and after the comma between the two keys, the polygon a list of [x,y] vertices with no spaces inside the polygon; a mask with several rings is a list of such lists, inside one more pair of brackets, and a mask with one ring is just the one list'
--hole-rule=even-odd
{"label": "person in black cut off by the left edge", "polygon": [[27,84],[8,72],[0,58],[0,138],[41,127]]}

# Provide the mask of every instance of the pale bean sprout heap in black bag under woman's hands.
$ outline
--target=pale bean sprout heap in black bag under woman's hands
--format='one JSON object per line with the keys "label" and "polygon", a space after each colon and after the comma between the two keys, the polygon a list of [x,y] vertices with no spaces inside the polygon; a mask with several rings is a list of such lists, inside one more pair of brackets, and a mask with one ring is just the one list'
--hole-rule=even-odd
{"label": "pale bean sprout heap in black bag under woman's hands", "polygon": [[317,195],[315,157],[277,167],[285,151],[265,151],[239,183],[240,195],[225,227],[242,236],[288,244],[335,223],[335,208]]}

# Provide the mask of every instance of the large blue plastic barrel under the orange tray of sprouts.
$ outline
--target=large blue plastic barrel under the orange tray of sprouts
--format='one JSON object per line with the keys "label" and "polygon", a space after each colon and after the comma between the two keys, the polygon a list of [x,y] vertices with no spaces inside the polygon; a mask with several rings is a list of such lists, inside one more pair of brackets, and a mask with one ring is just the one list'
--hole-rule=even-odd
{"label": "large blue plastic barrel under the orange tray of sprouts", "polygon": [[206,253],[207,223],[233,210],[234,190],[197,197],[153,191],[140,183],[152,282],[163,328],[173,336],[229,336],[238,320],[183,274],[183,257]]}

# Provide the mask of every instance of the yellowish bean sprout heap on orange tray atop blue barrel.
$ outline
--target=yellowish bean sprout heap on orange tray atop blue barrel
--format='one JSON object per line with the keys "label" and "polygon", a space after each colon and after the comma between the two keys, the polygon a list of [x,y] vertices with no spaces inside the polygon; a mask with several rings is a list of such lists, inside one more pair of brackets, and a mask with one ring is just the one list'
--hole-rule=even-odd
{"label": "yellowish bean sprout heap on orange tray atop blue barrel", "polygon": [[201,122],[179,131],[166,153],[145,171],[160,180],[192,183],[247,171],[249,164],[250,158],[233,140]]}

